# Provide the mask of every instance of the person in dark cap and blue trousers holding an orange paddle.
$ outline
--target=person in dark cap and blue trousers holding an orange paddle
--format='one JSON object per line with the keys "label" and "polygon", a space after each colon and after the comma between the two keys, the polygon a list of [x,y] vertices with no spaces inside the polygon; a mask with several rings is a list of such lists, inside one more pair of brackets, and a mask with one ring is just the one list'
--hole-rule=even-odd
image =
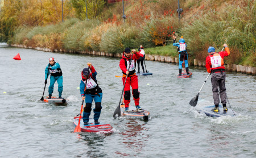
{"label": "person in dark cap and blue trousers holding an orange paddle", "polygon": [[[98,86],[97,84],[96,70],[94,69],[91,63],[87,63],[87,65],[89,66],[89,69],[84,68],[82,70],[82,80],[80,82],[80,93],[82,96],[82,100],[85,99],[85,107],[84,107],[84,113],[82,115],[82,119],[84,120],[84,125],[88,125],[90,111],[92,111],[92,101],[94,99],[95,109],[93,109],[93,113],[94,113],[93,119],[95,124],[100,124],[100,122],[98,122],[98,119],[100,118],[101,109],[102,109],[101,107],[102,90],[100,86]],[[86,83],[86,90],[85,90],[85,83]],[[85,90],[85,96],[84,96],[84,90]]]}

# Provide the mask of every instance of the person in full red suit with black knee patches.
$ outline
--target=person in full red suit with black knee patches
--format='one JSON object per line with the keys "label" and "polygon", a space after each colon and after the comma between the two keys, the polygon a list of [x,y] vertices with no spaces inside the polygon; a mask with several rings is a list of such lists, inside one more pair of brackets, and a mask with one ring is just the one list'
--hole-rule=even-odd
{"label": "person in full red suit with black knee patches", "polygon": [[[133,58],[131,59],[131,49],[125,48],[122,59],[120,60],[120,63],[119,63],[120,69],[122,70],[122,73],[123,73],[123,78],[122,78],[123,85],[125,84],[125,89],[124,89],[125,90],[125,94],[124,94],[125,111],[129,110],[129,103],[130,103],[130,97],[131,97],[130,86],[133,89],[133,99],[134,99],[136,109],[141,110],[141,107],[139,107],[138,76],[135,73],[135,67],[134,67],[135,60],[138,60],[139,57],[141,56],[134,49],[132,50],[132,52],[134,53],[134,55],[132,56]],[[129,65],[130,65],[130,68],[129,68]],[[125,82],[126,76],[127,76],[127,79]]]}

